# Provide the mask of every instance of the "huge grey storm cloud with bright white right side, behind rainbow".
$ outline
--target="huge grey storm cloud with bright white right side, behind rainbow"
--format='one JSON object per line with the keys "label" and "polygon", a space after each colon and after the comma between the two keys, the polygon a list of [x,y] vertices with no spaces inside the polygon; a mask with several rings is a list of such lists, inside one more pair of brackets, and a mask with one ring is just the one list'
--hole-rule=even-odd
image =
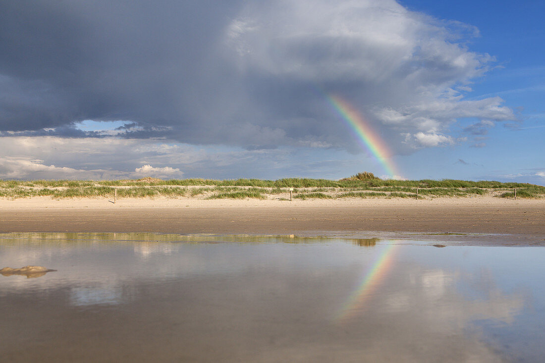
{"label": "huge grey storm cloud with bright white right side, behind rainbow", "polygon": [[491,58],[452,32],[391,0],[0,0],[0,131],[126,120],[125,138],[360,150],[334,92],[395,152],[437,146],[458,117],[513,119],[453,89]]}

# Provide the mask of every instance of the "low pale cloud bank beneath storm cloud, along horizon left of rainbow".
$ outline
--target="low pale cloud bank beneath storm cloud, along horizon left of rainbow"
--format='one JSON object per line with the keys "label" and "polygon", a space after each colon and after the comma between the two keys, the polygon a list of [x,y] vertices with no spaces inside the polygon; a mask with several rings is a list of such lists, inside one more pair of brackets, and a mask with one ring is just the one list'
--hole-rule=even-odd
{"label": "low pale cloud bank beneath storm cloud, along horizon left of rainbow", "polygon": [[0,141],[0,179],[127,179],[146,177],[146,172],[165,179],[339,179],[360,170],[380,170],[370,157],[313,140],[298,149],[195,147],[167,140],[53,136],[3,137]]}

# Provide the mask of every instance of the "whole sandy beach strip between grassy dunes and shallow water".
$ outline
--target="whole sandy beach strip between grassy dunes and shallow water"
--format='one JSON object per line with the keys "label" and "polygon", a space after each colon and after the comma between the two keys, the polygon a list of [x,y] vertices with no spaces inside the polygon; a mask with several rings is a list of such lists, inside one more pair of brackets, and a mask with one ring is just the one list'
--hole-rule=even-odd
{"label": "whole sandy beach strip between grassy dunes and shallow water", "polygon": [[[306,201],[196,198],[0,200],[0,232],[359,233],[545,245],[545,201],[473,197]],[[374,233],[374,234],[377,234]],[[476,235],[438,235],[461,233]],[[426,237],[428,236],[428,237]]]}

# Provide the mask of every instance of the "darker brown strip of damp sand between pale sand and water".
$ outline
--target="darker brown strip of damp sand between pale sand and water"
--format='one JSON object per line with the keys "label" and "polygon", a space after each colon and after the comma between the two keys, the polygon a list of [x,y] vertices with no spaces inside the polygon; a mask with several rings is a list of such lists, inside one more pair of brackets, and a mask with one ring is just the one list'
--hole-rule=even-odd
{"label": "darker brown strip of damp sand between pale sand and water", "polygon": [[[526,205],[274,205],[0,210],[4,232],[335,234],[407,232],[402,238],[545,245],[545,203]],[[486,234],[426,235],[429,233]]]}

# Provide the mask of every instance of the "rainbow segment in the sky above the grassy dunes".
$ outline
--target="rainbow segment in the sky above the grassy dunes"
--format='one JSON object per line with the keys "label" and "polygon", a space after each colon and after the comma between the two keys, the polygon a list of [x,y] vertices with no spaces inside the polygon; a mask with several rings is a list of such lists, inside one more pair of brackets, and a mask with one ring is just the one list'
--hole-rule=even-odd
{"label": "rainbow segment in the sky above the grassy dunes", "polygon": [[326,98],[335,112],[354,131],[361,146],[371,152],[392,179],[396,178],[399,174],[397,168],[390,160],[392,153],[377,132],[371,128],[370,123],[352,105],[339,96],[326,94]]}

